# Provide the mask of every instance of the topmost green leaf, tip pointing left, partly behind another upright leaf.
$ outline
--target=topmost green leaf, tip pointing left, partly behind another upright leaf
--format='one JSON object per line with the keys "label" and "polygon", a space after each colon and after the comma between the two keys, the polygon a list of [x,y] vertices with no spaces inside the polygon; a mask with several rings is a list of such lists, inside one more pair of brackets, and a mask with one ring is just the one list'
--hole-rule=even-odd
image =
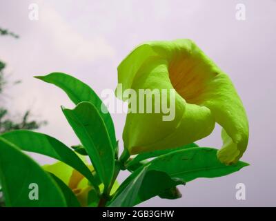
{"label": "topmost green leaf, tip pointing left, partly behind another upright leaf", "polygon": [[[101,99],[95,91],[90,88],[90,86],[84,84],[79,79],[64,73],[50,73],[46,76],[36,76],[36,78],[50,84],[55,84],[55,86],[61,88],[76,105],[80,102],[92,103],[103,118],[103,122],[108,129],[108,135],[112,142],[112,146],[113,148],[116,148],[115,128],[110,113],[108,113],[105,104],[103,104]],[[103,110],[104,113],[101,110]]]}

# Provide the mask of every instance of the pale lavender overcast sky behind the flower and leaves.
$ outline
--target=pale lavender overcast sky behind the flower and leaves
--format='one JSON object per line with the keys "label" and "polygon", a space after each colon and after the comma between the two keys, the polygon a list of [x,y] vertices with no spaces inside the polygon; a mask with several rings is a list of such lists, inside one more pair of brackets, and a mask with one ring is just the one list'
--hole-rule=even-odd
{"label": "pale lavender overcast sky behind the flower and leaves", "polygon": [[[30,3],[39,6],[39,20],[28,17]],[[246,6],[246,19],[235,17],[237,3]],[[72,108],[66,95],[32,78],[59,71],[73,75],[100,95],[115,89],[117,65],[137,44],[149,40],[193,39],[228,73],[242,97],[250,123],[251,165],[238,173],[198,179],[181,186],[179,200],[152,198],[141,206],[276,206],[275,64],[276,0],[250,1],[26,1],[1,0],[0,27],[20,35],[0,38],[0,60],[8,64],[10,81],[2,103],[12,117],[32,109],[35,119],[47,119],[48,133],[65,144],[78,144],[60,106]],[[121,140],[124,114],[112,114]],[[220,128],[201,146],[220,148]],[[122,146],[122,142],[120,142]],[[32,155],[41,164],[54,162]],[[120,175],[122,180],[128,175]],[[236,200],[235,185],[246,185],[246,200]]]}

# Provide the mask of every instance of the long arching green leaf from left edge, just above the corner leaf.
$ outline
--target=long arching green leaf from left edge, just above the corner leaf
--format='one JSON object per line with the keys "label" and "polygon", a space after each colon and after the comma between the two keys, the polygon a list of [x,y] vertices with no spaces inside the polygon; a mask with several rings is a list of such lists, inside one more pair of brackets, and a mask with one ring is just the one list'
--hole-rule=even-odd
{"label": "long arching green leaf from left edge, just above the corner leaf", "polygon": [[0,137],[15,144],[23,151],[47,155],[72,166],[72,168],[83,174],[97,188],[95,178],[92,176],[86,164],[82,162],[74,151],[54,137],[43,133],[23,130],[3,133]]}

